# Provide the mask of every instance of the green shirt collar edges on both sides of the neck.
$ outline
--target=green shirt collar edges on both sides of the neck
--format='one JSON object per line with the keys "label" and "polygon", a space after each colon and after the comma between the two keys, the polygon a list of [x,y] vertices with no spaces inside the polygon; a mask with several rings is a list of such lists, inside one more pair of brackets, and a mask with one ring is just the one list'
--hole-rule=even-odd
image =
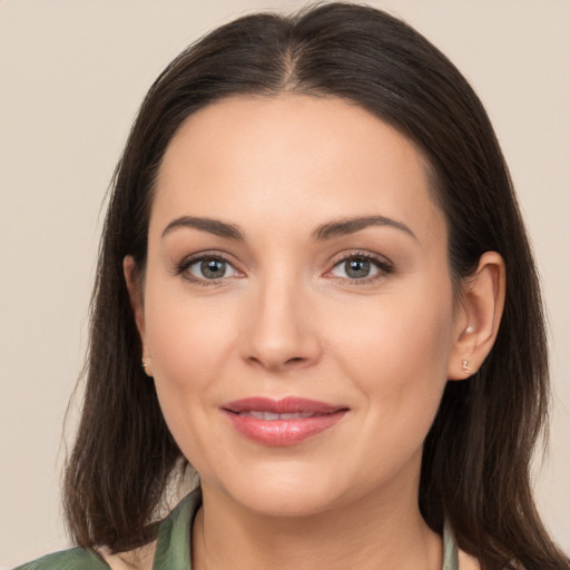
{"label": "green shirt collar edges on both sides of the neck", "polygon": [[[191,527],[202,505],[202,489],[188,493],[160,523],[153,570],[191,570]],[[459,570],[458,546],[445,521],[442,570]]]}

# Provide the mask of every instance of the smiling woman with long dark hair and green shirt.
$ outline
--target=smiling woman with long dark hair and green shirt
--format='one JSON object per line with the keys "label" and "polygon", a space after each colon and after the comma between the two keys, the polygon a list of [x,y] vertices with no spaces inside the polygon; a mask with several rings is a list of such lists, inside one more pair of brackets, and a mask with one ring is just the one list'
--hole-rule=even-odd
{"label": "smiling woman with long dark hair and green shirt", "polygon": [[66,472],[80,549],[23,568],[569,568],[529,482],[547,397],[524,228],[459,71],[371,8],[246,17],[134,125]]}

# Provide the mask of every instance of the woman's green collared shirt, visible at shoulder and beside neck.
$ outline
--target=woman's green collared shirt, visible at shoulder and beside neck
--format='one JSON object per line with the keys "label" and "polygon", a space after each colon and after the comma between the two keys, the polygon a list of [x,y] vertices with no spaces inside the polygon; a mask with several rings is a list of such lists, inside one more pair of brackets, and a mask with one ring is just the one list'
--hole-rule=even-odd
{"label": "woman's green collared shirt, visible at shoulder and beside neck", "polygon": [[[160,523],[153,570],[191,570],[190,530],[202,504],[202,493],[195,490]],[[109,564],[92,550],[73,548],[48,554],[14,570],[109,570]],[[452,533],[443,531],[442,570],[459,570],[458,548]]]}

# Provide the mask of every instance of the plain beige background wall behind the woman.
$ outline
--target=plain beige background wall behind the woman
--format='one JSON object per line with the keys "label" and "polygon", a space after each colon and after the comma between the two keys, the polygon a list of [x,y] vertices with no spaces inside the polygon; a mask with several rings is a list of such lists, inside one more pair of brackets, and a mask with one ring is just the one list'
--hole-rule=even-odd
{"label": "plain beige background wall behind the woman", "polygon": [[[62,421],[82,364],[100,206],[136,109],[189,41],[278,0],[0,0],[0,567],[66,547]],[[556,405],[537,484],[570,551],[570,1],[391,0],[472,81],[549,303]],[[68,423],[72,433],[73,414]]]}

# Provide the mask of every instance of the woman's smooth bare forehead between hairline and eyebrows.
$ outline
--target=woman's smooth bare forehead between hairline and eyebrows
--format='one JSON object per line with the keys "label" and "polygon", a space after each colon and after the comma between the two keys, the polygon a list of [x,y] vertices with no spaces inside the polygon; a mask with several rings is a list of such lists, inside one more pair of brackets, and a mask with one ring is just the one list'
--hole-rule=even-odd
{"label": "woman's smooth bare forehead between hairline and eyebrows", "polygon": [[343,213],[405,215],[425,225],[441,217],[429,173],[406,137],[355,104],[234,97],[190,116],[170,141],[151,225],[157,217],[215,215],[245,224],[306,220],[308,230]]}

